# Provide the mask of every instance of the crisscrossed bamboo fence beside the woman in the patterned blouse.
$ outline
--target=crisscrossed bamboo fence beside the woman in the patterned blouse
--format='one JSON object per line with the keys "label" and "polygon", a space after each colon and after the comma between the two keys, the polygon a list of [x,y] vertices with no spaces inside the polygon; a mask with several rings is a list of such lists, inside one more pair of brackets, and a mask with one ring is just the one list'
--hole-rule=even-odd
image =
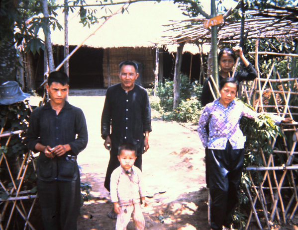
{"label": "crisscrossed bamboo fence beside the woman in the patterned blouse", "polygon": [[[297,77],[295,78],[281,78],[279,73],[273,75],[274,64],[272,65],[267,78],[260,78],[258,63],[258,45],[256,43],[256,70],[258,77],[252,84],[251,89],[246,88],[243,85],[244,90],[248,95],[247,100],[252,100],[252,105],[256,111],[264,112],[267,108],[274,108],[276,114],[281,117],[290,116],[293,119],[297,113],[292,113],[291,110],[298,109],[298,106],[289,105],[290,99],[297,97],[298,83]],[[263,53],[262,53],[263,54]],[[264,53],[265,54],[265,53]],[[273,54],[274,55],[274,54]],[[278,54],[286,55],[286,54]],[[272,79],[273,76],[277,76],[277,79]],[[274,87],[277,84],[277,87]],[[290,87],[292,84],[294,87]],[[278,88],[278,90],[276,90]],[[268,103],[268,98],[274,99],[274,105]],[[293,124],[281,124],[281,129],[284,134],[291,132],[293,134],[292,146],[289,146],[285,138],[283,138],[283,145],[285,150],[279,150],[276,146],[275,140],[271,145],[273,148],[273,154],[265,154],[262,149],[254,150],[258,152],[263,159],[264,166],[252,165],[246,167],[246,172],[249,175],[251,186],[246,187],[246,192],[251,204],[251,211],[248,217],[245,230],[249,228],[249,225],[254,217],[259,229],[267,228],[272,229],[274,221],[281,223],[287,223],[291,221],[298,209],[298,185],[296,185],[294,171],[298,170],[298,164],[293,164],[293,160],[297,152],[297,140],[298,140],[298,123]],[[291,136],[291,135],[288,135]],[[296,151],[295,151],[296,150]],[[284,154],[287,160],[282,165],[275,165],[275,154]],[[262,177],[259,181],[254,181],[252,173],[261,173]],[[285,184],[286,178],[288,183]],[[267,190],[267,191],[264,191]],[[285,196],[287,190],[288,195]],[[262,222],[265,223],[262,226]]]}

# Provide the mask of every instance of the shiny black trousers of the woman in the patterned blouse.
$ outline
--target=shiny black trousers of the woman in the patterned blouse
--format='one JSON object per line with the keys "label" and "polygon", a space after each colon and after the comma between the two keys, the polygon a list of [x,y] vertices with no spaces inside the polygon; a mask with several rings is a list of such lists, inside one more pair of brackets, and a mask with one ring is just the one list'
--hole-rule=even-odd
{"label": "shiny black trousers of the woman in the patterned blouse", "polygon": [[225,150],[208,150],[211,229],[230,227],[232,214],[238,205],[243,171],[244,150],[233,150],[227,142]]}

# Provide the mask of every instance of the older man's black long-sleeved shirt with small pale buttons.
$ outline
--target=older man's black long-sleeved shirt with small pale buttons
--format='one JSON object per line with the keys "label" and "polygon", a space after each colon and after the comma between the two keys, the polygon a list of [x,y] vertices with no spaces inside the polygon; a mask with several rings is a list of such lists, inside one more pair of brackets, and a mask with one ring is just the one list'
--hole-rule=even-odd
{"label": "older man's black long-sleeved shirt with small pale buttons", "polygon": [[146,89],[135,84],[126,93],[121,83],[108,87],[101,116],[101,137],[105,139],[110,136],[111,153],[117,154],[121,143],[133,143],[138,148],[137,155],[141,155],[144,152],[145,131],[152,131]]}

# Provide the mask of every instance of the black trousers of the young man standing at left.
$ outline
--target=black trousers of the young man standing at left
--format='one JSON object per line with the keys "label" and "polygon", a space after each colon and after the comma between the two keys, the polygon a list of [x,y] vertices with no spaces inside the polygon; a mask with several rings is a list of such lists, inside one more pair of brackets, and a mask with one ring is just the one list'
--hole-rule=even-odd
{"label": "black trousers of the young man standing at left", "polygon": [[80,176],[75,181],[37,179],[37,193],[45,230],[77,230],[81,207]]}

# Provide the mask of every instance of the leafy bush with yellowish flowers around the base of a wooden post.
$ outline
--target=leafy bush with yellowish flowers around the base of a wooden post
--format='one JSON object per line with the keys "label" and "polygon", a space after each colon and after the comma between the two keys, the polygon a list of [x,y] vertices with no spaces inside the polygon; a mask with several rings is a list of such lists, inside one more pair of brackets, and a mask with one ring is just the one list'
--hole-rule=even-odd
{"label": "leafy bush with yellowish flowers around the base of a wooden post", "polygon": [[164,83],[158,84],[156,95],[159,97],[159,101],[151,102],[151,108],[159,111],[163,120],[198,124],[202,87],[198,81],[190,84],[187,75],[180,75],[180,79],[181,102],[179,107],[173,110],[174,82],[172,80],[165,80]]}

